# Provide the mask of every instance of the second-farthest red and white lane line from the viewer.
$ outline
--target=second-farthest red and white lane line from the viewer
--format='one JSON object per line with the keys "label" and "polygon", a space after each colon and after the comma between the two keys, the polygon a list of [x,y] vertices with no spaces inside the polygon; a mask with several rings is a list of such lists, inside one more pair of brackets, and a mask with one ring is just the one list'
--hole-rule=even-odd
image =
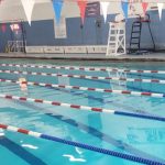
{"label": "second-farthest red and white lane line from the viewer", "polygon": [[33,76],[51,76],[51,77],[69,77],[69,78],[81,78],[81,79],[100,79],[100,80],[121,80],[121,81],[134,81],[134,82],[152,82],[152,84],[165,84],[163,79],[140,79],[140,78],[118,78],[118,77],[98,77],[87,75],[65,75],[65,74],[51,74],[51,73],[34,73],[34,72],[14,72],[14,70],[0,70],[4,74],[22,74]]}

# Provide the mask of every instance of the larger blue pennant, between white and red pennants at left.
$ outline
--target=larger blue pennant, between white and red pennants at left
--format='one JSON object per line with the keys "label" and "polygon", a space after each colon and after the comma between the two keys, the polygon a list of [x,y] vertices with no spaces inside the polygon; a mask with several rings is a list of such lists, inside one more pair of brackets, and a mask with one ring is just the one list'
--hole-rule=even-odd
{"label": "larger blue pennant, between white and red pennants at left", "polygon": [[63,8],[63,1],[62,0],[53,0],[53,9],[55,12],[55,18],[56,18],[57,24],[61,22],[62,8]]}

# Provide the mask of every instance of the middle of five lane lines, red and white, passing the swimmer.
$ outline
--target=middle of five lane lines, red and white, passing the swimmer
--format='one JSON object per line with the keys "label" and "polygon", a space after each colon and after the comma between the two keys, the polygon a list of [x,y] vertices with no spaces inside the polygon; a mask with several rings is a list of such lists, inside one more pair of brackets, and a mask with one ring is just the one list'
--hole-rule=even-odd
{"label": "middle of five lane lines, red and white, passing the swimmer", "polygon": [[[9,79],[0,79],[0,82],[20,84],[20,81],[9,80]],[[23,81],[22,84],[26,84],[26,85],[30,85],[30,86],[42,86],[42,87],[52,87],[52,88],[76,89],[76,90],[84,90],[84,91],[98,91],[98,92],[109,92],[109,94],[119,94],[119,95],[131,95],[131,96],[146,96],[146,97],[154,97],[154,98],[165,98],[165,94],[156,94],[156,92],[140,92],[140,91],[131,91],[131,90],[111,90],[111,89],[102,89],[102,88],[65,86],[65,85],[33,82],[33,81]]]}

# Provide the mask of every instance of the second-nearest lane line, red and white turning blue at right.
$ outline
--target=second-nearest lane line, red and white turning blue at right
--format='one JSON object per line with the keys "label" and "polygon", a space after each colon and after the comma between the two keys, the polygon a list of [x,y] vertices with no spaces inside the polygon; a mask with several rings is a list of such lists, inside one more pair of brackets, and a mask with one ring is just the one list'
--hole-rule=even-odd
{"label": "second-nearest lane line, red and white turning blue at right", "polygon": [[59,101],[33,99],[33,98],[28,98],[28,97],[18,97],[18,96],[3,95],[3,94],[0,94],[0,98],[4,98],[4,99],[9,99],[9,100],[19,100],[19,101],[26,101],[26,102],[35,102],[35,103],[66,107],[66,108],[72,108],[72,109],[77,109],[77,110],[82,110],[82,111],[87,110],[87,111],[94,111],[94,112],[103,112],[103,113],[110,113],[110,114],[117,114],[117,116],[148,119],[148,120],[157,120],[157,121],[165,122],[164,117],[146,116],[146,114],[140,114],[140,113],[124,112],[124,111],[116,111],[116,110],[111,110],[111,109],[103,109],[103,108],[97,108],[97,107],[70,105],[70,103],[65,103],[65,102],[59,102]]}

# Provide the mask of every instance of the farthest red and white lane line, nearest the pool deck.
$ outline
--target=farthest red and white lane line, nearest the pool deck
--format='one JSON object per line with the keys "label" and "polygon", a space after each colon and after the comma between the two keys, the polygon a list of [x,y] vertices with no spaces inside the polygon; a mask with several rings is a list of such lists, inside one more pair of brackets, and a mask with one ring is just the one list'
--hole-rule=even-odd
{"label": "farthest red and white lane line, nearest the pool deck", "polygon": [[0,64],[0,66],[9,67],[31,67],[31,68],[53,68],[67,70],[85,70],[85,72],[114,72],[114,73],[134,73],[134,74],[165,74],[165,70],[135,70],[135,69],[119,69],[109,67],[78,67],[78,66],[57,66],[57,65],[35,65],[35,64]]}

